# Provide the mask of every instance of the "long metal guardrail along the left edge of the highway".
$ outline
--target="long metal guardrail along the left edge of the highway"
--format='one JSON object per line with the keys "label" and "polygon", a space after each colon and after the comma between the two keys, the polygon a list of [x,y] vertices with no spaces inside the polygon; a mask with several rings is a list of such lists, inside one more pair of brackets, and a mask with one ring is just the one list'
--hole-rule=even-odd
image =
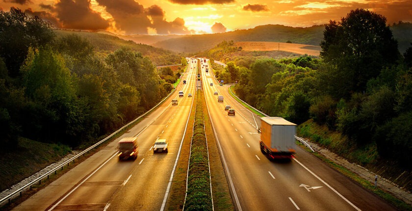
{"label": "long metal guardrail along the left edge of the highway", "polygon": [[9,195],[7,195],[6,197],[2,198],[0,200],[0,205],[3,205],[5,202],[8,201],[8,203],[10,203],[10,200],[13,199],[15,196],[17,195],[22,195],[23,191],[25,191],[26,189],[32,187],[32,185],[35,184],[41,184],[41,181],[44,178],[48,178],[51,174],[56,174],[58,169],[62,169],[65,165],[69,165],[70,162],[74,162],[76,158],[79,158],[80,156],[88,153],[90,150],[94,149],[95,147],[97,147],[98,145],[102,144],[104,141],[110,139],[112,136],[116,135],[117,133],[121,132],[122,130],[126,129],[127,127],[129,127],[131,124],[135,123],[137,120],[141,119],[142,117],[146,116],[148,113],[150,113],[152,110],[154,110],[155,108],[157,108],[157,106],[159,106],[160,104],[162,104],[164,101],[166,101],[174,92],[176,91],[176,89],[172,90],[172,92],[170,92],[169,95],[167,95],[162,101],[160,101],[156,106],[154,106],[152,109],[148,110],[146,113],[142,114],[141,116],[137,117],[136,119],[134,119],[133,121],[129,122],[127,125],[123,126],[122,128],[120,128],[119,130],[117,130],[116,132],[113,132],[112,134],[110,134],[109,136],[105,137],[103,140],[97,142],[96,144],[94,144],[93,146],[85,149],[83,152],[77,154],[75,157],[70,158],[69,160],[65,161],[64,163],[56,166],[55,168],[53,168],[52,170],[50,170],[49,172],[43,174],[42,176],[40,176],[39,178],[37,178],[36,180],[33,180],[32,182],[30,182],[29,184],[19,188],[18,190],[14,191],[13,193],[10,193]]}

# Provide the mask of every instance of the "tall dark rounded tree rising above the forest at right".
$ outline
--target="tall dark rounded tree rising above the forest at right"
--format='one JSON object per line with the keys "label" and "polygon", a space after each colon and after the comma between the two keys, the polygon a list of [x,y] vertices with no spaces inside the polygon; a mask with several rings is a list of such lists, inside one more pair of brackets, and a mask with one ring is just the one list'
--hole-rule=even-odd
{"label": "tall dark rounded tree rising above the forest at right", "polygon": [[386,18],[364,9],[351,10],[341,22],[325,26],[321,57],[337,67],[336,77],[329,81],[350,97],[366,89],[369,79],[379,75],[382,67],[396,63],[400,53]]}

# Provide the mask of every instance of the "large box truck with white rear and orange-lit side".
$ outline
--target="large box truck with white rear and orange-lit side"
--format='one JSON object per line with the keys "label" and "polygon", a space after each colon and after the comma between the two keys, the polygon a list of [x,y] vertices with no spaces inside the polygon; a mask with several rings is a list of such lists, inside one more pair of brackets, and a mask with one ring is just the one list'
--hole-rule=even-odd
{"label": "large box truck with white rear and orange-lit side", "polygon": [[282,117],[261,117],[260,151],[270,160],[291,159],[296,152],[296,124]]}

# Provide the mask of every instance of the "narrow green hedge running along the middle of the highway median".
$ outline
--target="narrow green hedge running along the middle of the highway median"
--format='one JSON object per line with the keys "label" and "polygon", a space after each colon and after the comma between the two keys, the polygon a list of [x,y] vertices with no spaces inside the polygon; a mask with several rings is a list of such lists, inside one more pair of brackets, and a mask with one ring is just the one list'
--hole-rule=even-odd
{"label": "narrow green hedge running along the middle of the highway median", "polygon": [[211,211],[212,195],[210,192],[209,161],[203,114],[203,93],[198,91],[195,123],[193,129],[191,155],[187,178],[187,196],[184,204],[186,211]]}

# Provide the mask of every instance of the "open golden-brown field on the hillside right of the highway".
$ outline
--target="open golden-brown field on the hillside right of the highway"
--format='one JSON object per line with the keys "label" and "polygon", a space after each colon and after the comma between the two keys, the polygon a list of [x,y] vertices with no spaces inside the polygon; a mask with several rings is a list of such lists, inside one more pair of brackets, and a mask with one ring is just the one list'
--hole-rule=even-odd
{"label": "open golden-brown field on the hillside right of the highway", "polygon": [[321,50],[319,46],[278,42],[236,42],[235,45],[242,47],[242,51],[284,51],[313,56],[319,56]]}

